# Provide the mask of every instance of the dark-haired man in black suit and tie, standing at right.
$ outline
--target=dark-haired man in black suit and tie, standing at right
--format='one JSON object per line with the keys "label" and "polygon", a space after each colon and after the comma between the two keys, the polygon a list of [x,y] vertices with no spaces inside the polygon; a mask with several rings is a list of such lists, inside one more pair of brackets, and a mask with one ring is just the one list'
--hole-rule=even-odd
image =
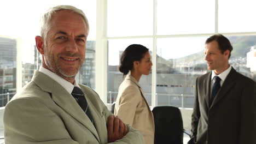
{"label": "dark-haired man in black suit and tie, standing at right", "polygon": [[221,34],[205,43],[210,73],[196,79],[189,144],[255,144],[256,83],[229,65],[232,46]]}

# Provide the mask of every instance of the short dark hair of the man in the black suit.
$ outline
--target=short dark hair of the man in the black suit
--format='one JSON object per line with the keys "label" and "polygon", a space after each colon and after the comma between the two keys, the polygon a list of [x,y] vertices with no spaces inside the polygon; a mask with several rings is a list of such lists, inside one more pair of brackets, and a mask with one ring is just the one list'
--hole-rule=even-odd
{"label": "short dark hair of the man in the black suit", "polygon": [[229,50],[229,58],[230,58],[233,47],[230,44],[229,39],[224,37],[222,34],[214,34],[205,41],[205,44],[211,43],[214,40],[217,41],[219,45],[219,49],[220,51],[222,51],[222,53],[224,53],[226,50]]}

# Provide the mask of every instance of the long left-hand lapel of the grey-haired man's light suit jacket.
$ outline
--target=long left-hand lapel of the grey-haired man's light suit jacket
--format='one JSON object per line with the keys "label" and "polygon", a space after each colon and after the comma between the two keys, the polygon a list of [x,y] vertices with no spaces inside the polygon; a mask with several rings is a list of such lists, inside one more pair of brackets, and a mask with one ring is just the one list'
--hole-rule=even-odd
{"label": "long left-hand lapel of the grey-haired man's light suit jacket", "polygon": [[[97,131],[94,125],[91,123],[90,119],[84,111],[77,104],[77,101],[69,94],[65,88],[63,88],[59,83],[51,79],[49,76],[40,73],[39,71],[34,72],[32,81],[34,81],[43,91],[51,93],[53,101],[71,115],[78,122],[82,123],[86,128],[88,128],[92,134],[95,135],[97,140],[100,142]],[[91,105],[91,104],[90,104]]]}

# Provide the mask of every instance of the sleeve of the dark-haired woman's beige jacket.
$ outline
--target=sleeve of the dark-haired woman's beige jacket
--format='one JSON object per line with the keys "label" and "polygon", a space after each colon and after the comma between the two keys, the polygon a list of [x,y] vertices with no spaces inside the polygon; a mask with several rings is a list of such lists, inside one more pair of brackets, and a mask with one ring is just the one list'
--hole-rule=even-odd
{"label": "sleeve of the dark-haired woman's beige jacket", "polygon": [[135,86],[128,86],[119,93],[120,98],[115,104],[115,113],[126,124],[133,124],[136,107],[141,101],[141,93]]}

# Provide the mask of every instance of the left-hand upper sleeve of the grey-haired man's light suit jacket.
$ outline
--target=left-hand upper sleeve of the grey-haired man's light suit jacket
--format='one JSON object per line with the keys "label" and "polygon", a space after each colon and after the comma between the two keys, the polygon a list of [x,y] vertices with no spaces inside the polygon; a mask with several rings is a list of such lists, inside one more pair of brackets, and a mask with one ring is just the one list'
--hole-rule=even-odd
{"label": "left-hand upper sleeve of the grey-haired man's light suit jacket", "polygon": [[60,117],[34,99],[11,100],[5,106],[3,122],[5,143],[78,144]]}

